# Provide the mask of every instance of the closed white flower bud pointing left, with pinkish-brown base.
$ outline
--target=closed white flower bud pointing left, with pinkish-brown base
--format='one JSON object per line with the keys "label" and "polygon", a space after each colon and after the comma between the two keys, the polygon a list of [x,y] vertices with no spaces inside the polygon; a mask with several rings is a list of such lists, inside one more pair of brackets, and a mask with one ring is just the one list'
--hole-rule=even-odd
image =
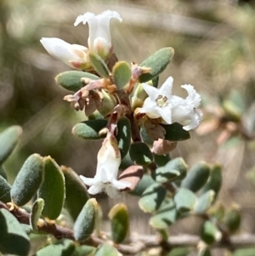
{"label": "closed white flower bud pointing left, with pinkish-brown base", "polygon": [[40,42],[48,54],[62,60],[66,65],[79,70],[88,70],[91,66],[88,60],[88,48],[82,45],[66,43],[56,37],[42,37]]}

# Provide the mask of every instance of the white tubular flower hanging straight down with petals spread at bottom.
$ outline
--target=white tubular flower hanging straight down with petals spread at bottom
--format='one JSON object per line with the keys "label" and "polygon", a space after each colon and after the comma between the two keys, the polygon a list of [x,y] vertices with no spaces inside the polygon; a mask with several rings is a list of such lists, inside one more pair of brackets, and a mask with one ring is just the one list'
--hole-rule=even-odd
{"label": "white tubular flower hanging straight down with petals spread at bottom", "polygon": [[117,180],[121,161],[121,153],[116,138],[109,133],[99,150],[98,165],[94,178],[86,178],[80,175],[85,185],[90,186],[88,193],[95,195],[105,191],[111,198],[119,197],[119,191],[131,185],[127,181]]}

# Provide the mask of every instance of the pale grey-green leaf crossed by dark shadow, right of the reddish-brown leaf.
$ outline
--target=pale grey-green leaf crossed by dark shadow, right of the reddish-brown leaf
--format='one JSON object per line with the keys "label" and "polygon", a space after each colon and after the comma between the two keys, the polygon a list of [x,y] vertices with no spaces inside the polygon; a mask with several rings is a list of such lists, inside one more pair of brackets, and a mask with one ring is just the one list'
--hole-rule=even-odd
{"label": "pale grey-green leaf crossed by dark shadow, right of the reddish-brown leaf", "polygon": [[183,179],[186,175],[187,165],[184,159],[177,157],[169,162],[164,167],[156,168],[156,182],[166,183],[176,179]]}

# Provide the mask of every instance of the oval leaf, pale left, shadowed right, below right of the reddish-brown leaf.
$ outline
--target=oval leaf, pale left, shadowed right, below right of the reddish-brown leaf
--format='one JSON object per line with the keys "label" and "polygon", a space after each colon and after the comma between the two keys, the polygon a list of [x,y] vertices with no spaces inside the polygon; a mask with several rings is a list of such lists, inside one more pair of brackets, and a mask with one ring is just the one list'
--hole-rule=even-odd
{"label": "oval leaf, pale left, shadowed right, below right of the reddish-brown leaf", "polygon": [[167,190],[158,183],[150,185],[139,200],[139,207],[144,213],[153,213],[161,206]]}

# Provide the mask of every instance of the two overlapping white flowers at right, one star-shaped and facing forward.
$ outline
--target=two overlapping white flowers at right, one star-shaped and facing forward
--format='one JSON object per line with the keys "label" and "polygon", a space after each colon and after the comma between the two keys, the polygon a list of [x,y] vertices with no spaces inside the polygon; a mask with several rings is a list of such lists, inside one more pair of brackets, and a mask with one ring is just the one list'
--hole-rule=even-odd
{"label": "two overlapping white flowers at right, one star-shaped and facing forward", "polygon": [[139,113],[145,113],[151,119],[161,118],[167,124],[180,122],[187,131],[196,128],[202,116],[201,111],[195,109],[201,103],[201,96],[190,84],[181,87],[188,92],[186,99],[172,95],[173,77],[168,77],[161,88],[143,83],[144,91],[149,97],[144,100]]}

